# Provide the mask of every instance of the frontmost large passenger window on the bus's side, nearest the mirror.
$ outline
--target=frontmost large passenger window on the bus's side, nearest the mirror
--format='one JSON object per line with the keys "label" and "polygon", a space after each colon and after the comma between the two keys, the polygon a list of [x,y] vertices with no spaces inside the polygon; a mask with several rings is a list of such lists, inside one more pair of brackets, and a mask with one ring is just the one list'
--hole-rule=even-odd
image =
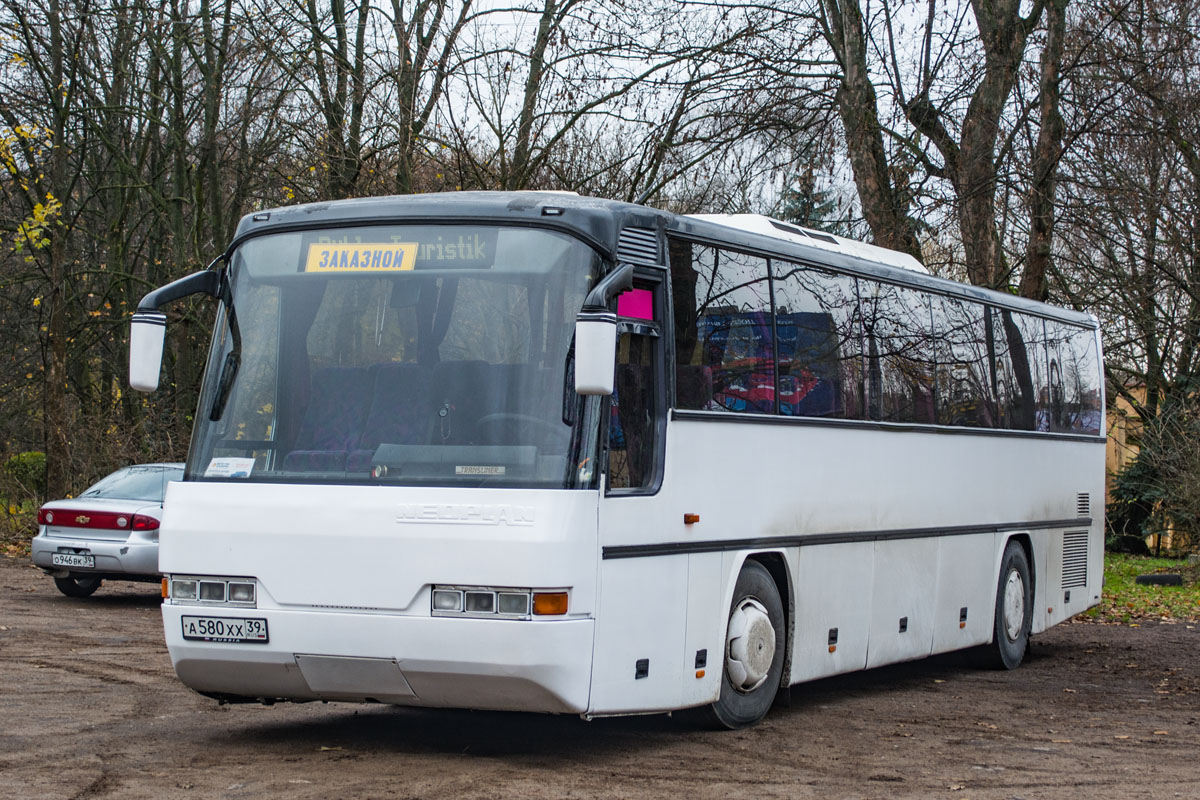
{"label": "frontmost large passenger window on the bus's side, nearest the mirror", "polygon": [[671,273],[677,407],[774,414],[775,356],[766,259],[673,241]]}

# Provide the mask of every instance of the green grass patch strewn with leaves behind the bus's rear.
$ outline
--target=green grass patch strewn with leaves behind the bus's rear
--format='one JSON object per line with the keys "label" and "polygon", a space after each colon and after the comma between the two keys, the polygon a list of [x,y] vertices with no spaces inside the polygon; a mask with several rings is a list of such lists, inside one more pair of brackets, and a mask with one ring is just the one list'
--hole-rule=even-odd
{"label": "green grass patch strewn with leaves behind the bus's rear", "polygon": [[[1182,575],[1183,585],[1145,587],[1134,582],[1139,575],[1152,572]],[[1180,559],[1105,553],[1100,604],[1088,609],[1084,618],[1112,625],[1200,620],[1200,565]]]}

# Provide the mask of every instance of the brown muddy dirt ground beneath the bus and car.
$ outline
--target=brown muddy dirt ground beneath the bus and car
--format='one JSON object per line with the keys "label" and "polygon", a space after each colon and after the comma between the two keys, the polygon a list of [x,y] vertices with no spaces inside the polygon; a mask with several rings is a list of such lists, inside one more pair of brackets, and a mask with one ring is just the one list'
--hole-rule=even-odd
{"label": "brown muddy dirt ground beneath the bus and car", "polygon": [[793,690],[749,730],[306,704],[180,685],[157,587],[0,558],[0,798],[1198,798],[1200,626],[1068,624]]}

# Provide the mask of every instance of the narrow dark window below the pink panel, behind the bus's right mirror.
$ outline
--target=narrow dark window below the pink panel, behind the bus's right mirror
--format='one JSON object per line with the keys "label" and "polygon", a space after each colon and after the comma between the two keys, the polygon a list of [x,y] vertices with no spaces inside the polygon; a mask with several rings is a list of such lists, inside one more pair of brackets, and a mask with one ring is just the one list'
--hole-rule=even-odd
{"label": "narrow dark window below the pink panel, behind the bus's right mirror", "polygon": [[655,341],[622,333],[608,398],[608,488],[648,488],[654,481],[658,432]]}

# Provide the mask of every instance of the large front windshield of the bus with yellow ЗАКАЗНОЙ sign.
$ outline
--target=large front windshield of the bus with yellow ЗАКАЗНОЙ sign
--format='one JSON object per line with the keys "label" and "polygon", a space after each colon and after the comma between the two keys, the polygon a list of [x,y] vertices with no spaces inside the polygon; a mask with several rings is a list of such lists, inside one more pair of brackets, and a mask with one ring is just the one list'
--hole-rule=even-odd
{"label": "large front windshield of the bus with yellow \u0417\u0410\u041a\u0410\u0417\u041d\u041e\u0419 sign", "polygon": [[570,359],[601,261],[582,242],[326,228],[247,240],[228,269],[186,480],[594,485],[599,404]]}

